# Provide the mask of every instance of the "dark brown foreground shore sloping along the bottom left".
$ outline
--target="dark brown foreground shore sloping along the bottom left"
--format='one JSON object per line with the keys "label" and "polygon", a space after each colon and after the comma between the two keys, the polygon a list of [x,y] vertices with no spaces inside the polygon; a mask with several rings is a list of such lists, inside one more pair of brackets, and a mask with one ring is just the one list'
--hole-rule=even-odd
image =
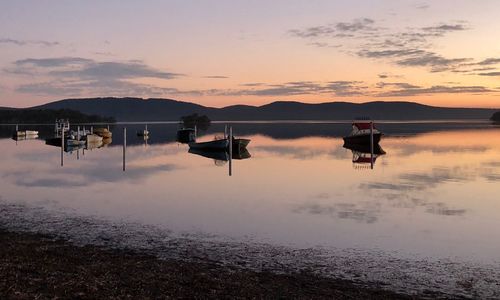
{"label": "dark brown foreground shore sloping along the bottom left", "polygon": [[1,228],[0,245],[1,299],[417,299],[310,274],[160,260]]}

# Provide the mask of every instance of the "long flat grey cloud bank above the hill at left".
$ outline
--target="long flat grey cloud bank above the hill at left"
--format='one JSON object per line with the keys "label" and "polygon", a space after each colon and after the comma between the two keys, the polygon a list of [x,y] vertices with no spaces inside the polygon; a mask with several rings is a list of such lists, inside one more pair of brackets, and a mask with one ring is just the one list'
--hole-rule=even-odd
{"label": "long flat grey cloud bank above the hill at left", "polygon": [[44,81],[22,84],[21,93],[36,95],[114,95],[150,96],[164,94],[199,94],[197,91],[179,91],[175,88],[135,83],[140,78],[174,79],[182,74],[165,72],[139,60],[96,61],[82,57],[26,58],[17,60],[4,72],[36,75]]}

